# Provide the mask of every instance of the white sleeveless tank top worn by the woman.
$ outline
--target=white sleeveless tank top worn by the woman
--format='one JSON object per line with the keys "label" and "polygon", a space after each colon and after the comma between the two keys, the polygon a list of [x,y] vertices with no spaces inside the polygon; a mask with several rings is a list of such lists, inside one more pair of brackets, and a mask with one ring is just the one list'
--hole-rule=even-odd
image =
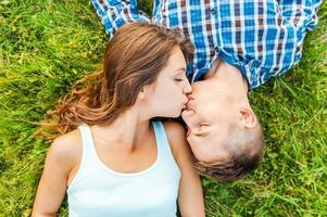
{"label": "white sleeveless tank top worn by the woman", "polygon": [[180,170],[172,154],[163,124],[152,123],[158,156],[146,170],[122,174],[97,155],[90,128],[79,126],[80,166],[68,189],[70,216],[176,217]]}

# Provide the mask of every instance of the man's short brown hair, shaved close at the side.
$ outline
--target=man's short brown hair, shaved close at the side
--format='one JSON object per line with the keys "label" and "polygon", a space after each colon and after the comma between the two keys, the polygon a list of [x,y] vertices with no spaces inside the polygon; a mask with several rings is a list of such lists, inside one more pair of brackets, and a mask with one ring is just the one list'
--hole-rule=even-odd
{"label": "man's short brown hair, shaved close at the side", "polygon": [[228,127],[224,144],[228,155],[215,161],[194,161],[197,170],[216,181],[235,181],[254,170],[264,155],[263,132],[260,123],[254,128]]}

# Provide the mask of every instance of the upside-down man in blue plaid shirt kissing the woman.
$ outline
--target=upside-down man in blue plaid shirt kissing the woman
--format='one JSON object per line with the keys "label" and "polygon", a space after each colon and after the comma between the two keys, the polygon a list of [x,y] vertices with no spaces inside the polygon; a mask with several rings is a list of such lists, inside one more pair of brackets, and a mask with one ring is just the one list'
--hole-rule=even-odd
{"label": "upside-down man in blue plaid shirt kissing the woman", "polygon": [[200,173],[237,180],[260,164],[263,133],[248,92],[300,61],[320,0],[155,0],[151,20],[136,0],[92,3],[109,35],[154,22],[193,43],[193,91],[181,116]]}

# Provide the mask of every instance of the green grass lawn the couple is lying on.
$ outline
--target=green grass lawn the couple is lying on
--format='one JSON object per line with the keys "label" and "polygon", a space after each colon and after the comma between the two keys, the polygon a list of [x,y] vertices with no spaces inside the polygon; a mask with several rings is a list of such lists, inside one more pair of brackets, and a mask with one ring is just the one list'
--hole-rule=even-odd
{"label": "green grass lawn the couple is lying on", "polygon": [[[98,68],[108,37],[88,1],[0,0],[0,216],[29,216],[50,145],[36,123]],[[263,164],[235,183],[203,179],[207,216],[327,216],[326,2],[319,17],[301,63],[251,93]]]}

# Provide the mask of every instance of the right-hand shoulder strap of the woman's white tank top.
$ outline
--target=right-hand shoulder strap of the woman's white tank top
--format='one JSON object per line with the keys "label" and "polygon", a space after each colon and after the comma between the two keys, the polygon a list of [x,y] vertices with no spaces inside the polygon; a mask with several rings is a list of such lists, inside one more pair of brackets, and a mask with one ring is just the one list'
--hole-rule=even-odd
{"label": "right-hand shoulder strap of the woman's white tank top", "polygon": [[[155,133],[155,141],[158,146],[158,152],[161,155],[160,158],[168,159],[172,158],[175,162],[173,156],[173,152],[171,150],[171,145],[166,136],[165,128],[162,122],[152,122],[154,133]],[[168,157],[168,158],[167,158]]]}

